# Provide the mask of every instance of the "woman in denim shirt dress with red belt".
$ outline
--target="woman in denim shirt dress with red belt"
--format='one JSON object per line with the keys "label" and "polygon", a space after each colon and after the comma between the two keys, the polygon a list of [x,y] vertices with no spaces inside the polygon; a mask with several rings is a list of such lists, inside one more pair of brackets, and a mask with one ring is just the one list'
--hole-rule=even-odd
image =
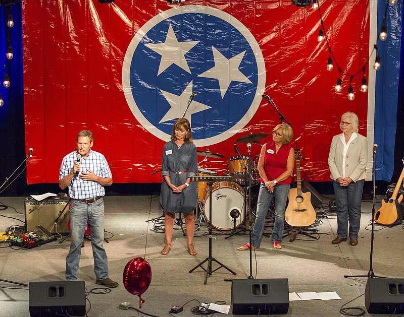
{"label": "woman in denim shirt dress with red belt", "polygon": [[176,213],[184,214],[189,254],[197,254],[193,246],[193,211],[197,202],[197,188],[195,182],[190,182],[190,177],[195,176],[196,172],[197,153],[192,143],[190,124],[187,119],[180,118],[174,123],[171,141],[163,149],[160,204],[165,210],[166,245],[161,251],[162,255],[168,255],[171,249]]}

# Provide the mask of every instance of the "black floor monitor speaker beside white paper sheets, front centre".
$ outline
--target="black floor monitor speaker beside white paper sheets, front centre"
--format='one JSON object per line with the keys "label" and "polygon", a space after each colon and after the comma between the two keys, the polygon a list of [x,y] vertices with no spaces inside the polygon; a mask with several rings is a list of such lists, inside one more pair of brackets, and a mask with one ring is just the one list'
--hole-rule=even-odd
{"label": "black floor monitor speaker beside white paper sheets, front centre", "polygon": [[231,284],[233,314],[269,315],[287,313],[287,279],[234,279]]}

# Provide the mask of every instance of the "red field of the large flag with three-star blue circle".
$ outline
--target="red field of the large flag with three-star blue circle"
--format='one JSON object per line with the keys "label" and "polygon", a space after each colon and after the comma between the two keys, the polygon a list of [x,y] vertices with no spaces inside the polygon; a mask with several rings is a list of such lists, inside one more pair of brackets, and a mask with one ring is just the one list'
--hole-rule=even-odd
{"label": "red field of the large flag with three-star blue circle", "polygon": [[[356,73],[369,57],[369,1],[320,6],[338,66]],[[160,182],[153,173],[184,114],[202,151],[199,168],[219,175],[237,159],[235,143],[247,157],[246,142],[237,140],[267,135],[249,142],[254,168],[279,113],[292,125],[292,146],[306,159],[302,178],[310,181],[330,180],[328,151],[342,113],[356,112],[367,136],[374,109],[359,92],[362,75],[348,101],[349,78],[335,64],[326,70],[330,52],[317,40],[320,15],[311,7],[290,0],[23,0],[22,8],[26,144],[35,149],[28,183],[57,182],[63,156],[84,129],[114,182]],[[344,88],[336,93],[340,77]],[[223,158],[204,160],[206,151]]]}

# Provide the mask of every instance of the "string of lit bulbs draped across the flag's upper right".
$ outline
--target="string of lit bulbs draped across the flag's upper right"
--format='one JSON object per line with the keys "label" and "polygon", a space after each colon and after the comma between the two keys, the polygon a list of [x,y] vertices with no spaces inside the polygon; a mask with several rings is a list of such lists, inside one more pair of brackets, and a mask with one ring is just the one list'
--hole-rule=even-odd
{"label": "string of lit bulbs draped across the flag's upper right", "polygon": [[373,69],[375,71],[378,71],[381,68],[381,64],[380,64],[380,55],[378,53],[377,50],[377,41],[385,41],[387,38],[387,26],[386,26],[386,15],[387,15],[387,9],[389,5],[396,5],[397,4],[397,0],[388,0],[386,3],[386,8],[384,11],[384,15],[383,15],[383,21],[382,21],[382,25],[380,27],[380,31],[379,31],[379,35],[378,38],[376,40],[376,44],[373,46],[372,51],[369,54],[369,58],[366,60],[365,65],[363,67],[361,67],[358,72],[354,73],[354,74],[349,74],[347,71],[342,70],[337,62],[337,59],[335,58],[331,46],[328,42],[328,37],[327,37],[327,31],[324,27],[324,21],[323,21],[323,17],[321,15],[321,10],[320,10],[320,4],[318,0],[313,0],[313,9],[318,9],[319,11],[319,15],[320,15],[320,22],[321,22],[321,29],[319,30],[319,35],[317,37],[318,42],[323,42],[324,40],[326,41],[327,44],[327,48],[328,51],[330,53],[328,59],[327,59],[327,71],[331,72],[334,69],[333,66],[333,61],[335,62],[335,65],[338,69],[339,72],[339,77],[337,79],[337,83],[334,86],[334,91],[339,93],[342,91],[342,77],[346,76],[349,78],[349,86],[348,86],[348,94],[347,94],[347,98],[349,100],[354,100],[355,99],[355,92],[354,92],[354,87],[352,87],[352,80],[358,76],[359,74],[363,73],[363,77],[362,77],[362,81],[361,81],[361,87],[360,87],[360,91],[363,93],[366,93],[368,91],[368,83],[365,77],[365,71],[366,71],[366,67],[369,64],[370,58],[373,55],[373,53],[376,51],[376,57],[375,57],[375,62],[373,64]]}

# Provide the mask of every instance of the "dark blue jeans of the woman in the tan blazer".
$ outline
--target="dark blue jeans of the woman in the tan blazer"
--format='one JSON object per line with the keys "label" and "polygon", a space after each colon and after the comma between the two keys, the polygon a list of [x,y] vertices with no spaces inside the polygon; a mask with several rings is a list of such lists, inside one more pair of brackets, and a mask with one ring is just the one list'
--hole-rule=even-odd
{"label": "dark blue jeans of the woman in the tan blazer", "polygon": [[335,202],[337,203],[337,234],[340,238],[348,236],[358,239],[361,227],[361,200],[364,180],[350,182],[348,186],[340,186],[339,182],[333,181]]}

